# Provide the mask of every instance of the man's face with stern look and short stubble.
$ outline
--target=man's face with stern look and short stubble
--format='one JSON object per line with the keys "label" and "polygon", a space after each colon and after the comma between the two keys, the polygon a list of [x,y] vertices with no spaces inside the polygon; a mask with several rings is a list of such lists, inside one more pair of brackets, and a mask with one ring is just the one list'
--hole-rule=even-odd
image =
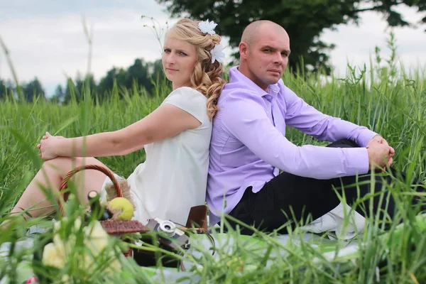
{"label": "man's face with stern look and short stubble", "polygon": [[290,39],[285,31],[262,26],[246,48],[248,77],[259,87],[266,90],[283,77],[290,55]]}

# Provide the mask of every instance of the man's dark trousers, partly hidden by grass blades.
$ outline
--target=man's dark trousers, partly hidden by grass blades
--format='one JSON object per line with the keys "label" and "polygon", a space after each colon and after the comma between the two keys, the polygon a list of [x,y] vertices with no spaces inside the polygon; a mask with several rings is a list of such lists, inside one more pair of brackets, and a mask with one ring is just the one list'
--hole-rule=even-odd
{"label": "man's dark trousers, partly hidden by grass blades", "polygon": [[[359,146],[353,141],[342,139],[327,147],[354,148]],[[404,173],[396,173],[392,169],[391,171],[394,175],[404,176]],[[378,172],[375,180],[374,192],[381,192],[385,183],[392,182],[392,178],[388,174]],[[419,188],[425,190],[424,187]],[[245,224],[253,225],[257,229],[272,231],[283,224],[290,224],[294,227],[296,222],[307,224],[307,222],[321,217],[337,207],[340,202],[338,195],[344,195],[346,203],[354,206],[354,202],[359,200],[359,197],[365,197],[371,191],[371,173],[331,180],[317,180],[290,173],[280,173],[266,182],[257,193],[253,193],[251,187],[248,187],[239,204],[229,215]],[[363,199],[361,198],[361,200]],[[356,204],[355,209],[367,217],[371,204],[372,213],[381,214],[381,219],[384,214],[393,217],[395,213],[395,201],[388,191],[382,196],[377,194],[375,197],[365,198],[361,204]],[[236,226],[236,223],[230,220],[229,222],[231,226]],[[253,231],[244,229],[242,226],[240,229],[241,234],[253,234]],[[287,229],[281,229],[279,232],[285,234]]]}

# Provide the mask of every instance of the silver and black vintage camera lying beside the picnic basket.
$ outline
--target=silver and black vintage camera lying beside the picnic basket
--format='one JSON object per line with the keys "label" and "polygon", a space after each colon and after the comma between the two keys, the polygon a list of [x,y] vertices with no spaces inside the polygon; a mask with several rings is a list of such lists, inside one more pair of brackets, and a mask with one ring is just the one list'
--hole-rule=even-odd
{"label": "silver and black vintage camera lying beside the picnic basket", "polygon": [[[182,249],[189,249],[189,237],[170,220],[162,220],[160,218],[149,219],[146,226],[149,231],[143,234],[141,241],[148,244],[156,242],[161,249],[175,254],[182,254]],[[178,258],[144,250],[133,251],[133,259],[140,266],[155,266],[158,259],[166,267],[178,267],[180,264]]]}

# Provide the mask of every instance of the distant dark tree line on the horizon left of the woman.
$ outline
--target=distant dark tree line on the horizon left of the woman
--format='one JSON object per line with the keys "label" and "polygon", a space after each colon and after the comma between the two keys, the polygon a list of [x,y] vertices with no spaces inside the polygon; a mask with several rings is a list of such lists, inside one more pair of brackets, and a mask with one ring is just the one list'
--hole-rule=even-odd
{"label": "distant dark tree line on the horizon left of the woman", "polygon": [[[12,96],[21,98],[26,102],[33,102],[38,97],[39,99],[48,99],[61,104],[67,104],[71,101],[72,93],[74,93],[75,99],[79,102],[82,99],[84,84],[87,84],[92,92],[92,96],[96,97],[99,102],[102,102],[108,99],[114,83],[119,87],[127,89],[130,89],[133,84],[136,84],[139,88],[145,89],[148,94],[152,94],[155,82],[163,80],[163,77],[161,60],[146,62],[138,58],[133,62],[133,65],[126,69],[112,67],[99,80],[98,84],[94,81],[93,75],[90,74],[85,77],[77,75],[74,80],[68,78],[65,86],[62,87],[61,84],[58,84],[53,96],[45,93],[45,89],[37,77],[28,83],[20,84],[19,87],[16,87],[16,84],[10,80],[6,81],[0,78],[0,100]],[[74,92],[72,92],[72,89]]]}

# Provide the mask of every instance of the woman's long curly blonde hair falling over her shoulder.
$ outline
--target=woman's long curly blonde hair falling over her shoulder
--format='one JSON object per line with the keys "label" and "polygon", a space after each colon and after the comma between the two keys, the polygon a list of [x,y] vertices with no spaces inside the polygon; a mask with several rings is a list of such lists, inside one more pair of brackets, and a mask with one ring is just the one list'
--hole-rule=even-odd
{"label": "woman's long curly blonde hair falling over her shoulder", "polygon": [[210,50],[220,43],[221,38],[217,34],[202,33],[198,23],[200,21],[183,18],[170,28],[167,35],[178,40],[185,40],[195,46],[197,63],[190,80],[192,87],[207,97],[207,115],[209,119],[212,119],[219,110],[217,101],[226,84],[226,81],[222,79],[224,72],[222,64],[217,60],[212,63],[212,55],[210,55]]}

